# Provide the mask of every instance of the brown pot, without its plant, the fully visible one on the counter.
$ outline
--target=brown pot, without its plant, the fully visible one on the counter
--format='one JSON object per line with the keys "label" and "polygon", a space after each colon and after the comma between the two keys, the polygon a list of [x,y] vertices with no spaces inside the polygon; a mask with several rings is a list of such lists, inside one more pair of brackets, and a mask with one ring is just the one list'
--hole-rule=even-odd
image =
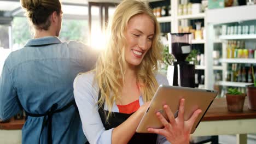
{"label": "brown pot, without its plant, the fully visible one on the counter", "polygon": [[245,94],[232,95],[226,94],[226,104],[228,105],[228,111],[242,112],[243,104],[245,103]]}

